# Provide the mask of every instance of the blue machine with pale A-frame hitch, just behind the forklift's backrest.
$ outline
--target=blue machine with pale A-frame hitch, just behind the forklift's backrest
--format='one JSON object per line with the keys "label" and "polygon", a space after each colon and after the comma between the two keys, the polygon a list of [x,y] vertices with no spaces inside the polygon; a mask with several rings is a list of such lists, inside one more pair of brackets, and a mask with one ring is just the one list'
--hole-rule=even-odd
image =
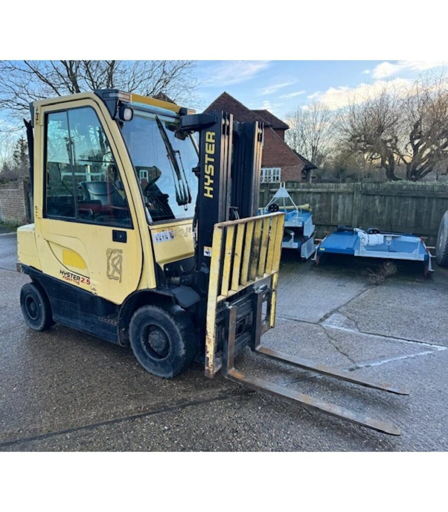
{"label": "blue machine with pale A-frame hitch, just behind the forklift's backrest", "polygon": [[259,215],[275,211],[283,211],[285,214],[282,247],[299,251],[304,260],[310,258],[316,250],[311,206],[296,206],[285,186],[281,185],[269,203],[264,208],[259,208]]}

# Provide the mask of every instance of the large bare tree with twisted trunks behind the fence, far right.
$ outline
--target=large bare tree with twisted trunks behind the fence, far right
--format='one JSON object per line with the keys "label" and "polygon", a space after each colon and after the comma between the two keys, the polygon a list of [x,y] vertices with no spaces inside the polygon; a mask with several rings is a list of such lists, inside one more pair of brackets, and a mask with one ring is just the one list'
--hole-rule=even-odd
{"label": "large bare tree with twisted trunks behind the fence, far right", "polygon": [[427,75],[407,90],[385,86],[380,94],[352,98],[339,112],[342,142],[399,180],[396,169],[417,181],[448,157],[448,89],[446,77]]}

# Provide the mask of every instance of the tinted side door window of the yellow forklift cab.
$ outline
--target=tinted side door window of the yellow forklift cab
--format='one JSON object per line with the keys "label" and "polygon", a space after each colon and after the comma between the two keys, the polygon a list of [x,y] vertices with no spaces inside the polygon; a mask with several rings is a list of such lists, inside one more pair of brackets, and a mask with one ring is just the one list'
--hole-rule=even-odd
{"label": "tinted side door window of the yellow forklift cab", "polygon": [[46,117],[46,215],[131,227],[120,173],[91,107]]}

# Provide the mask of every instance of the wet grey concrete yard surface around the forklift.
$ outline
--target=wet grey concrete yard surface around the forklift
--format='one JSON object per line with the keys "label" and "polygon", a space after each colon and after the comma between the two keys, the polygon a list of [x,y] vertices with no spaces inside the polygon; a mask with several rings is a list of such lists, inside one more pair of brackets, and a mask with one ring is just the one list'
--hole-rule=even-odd
{"label": "wet grey concrete yard surface around the forklift", "polygon": [[391,420],[380,434],[252,392],[200,365],[173,380],[142,370],[132,352],[56,325],[27,328],[19,306],[15,234],[0,233],[2,451],[445,451],[448,450],[448,272],[400,265],[381,286],[375,263],[315,267],[285,254],[276,328],[264,344],[388,380],[409,396],[360,388],[262,360],[237,367],[315,397]]}

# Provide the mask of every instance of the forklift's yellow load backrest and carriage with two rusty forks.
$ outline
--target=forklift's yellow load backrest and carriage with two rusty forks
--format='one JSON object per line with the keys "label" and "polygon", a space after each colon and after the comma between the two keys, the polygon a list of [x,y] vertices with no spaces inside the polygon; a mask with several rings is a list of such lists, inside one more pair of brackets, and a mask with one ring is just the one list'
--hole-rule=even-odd
{"label": "forklift's yellow load backrest and carriage with two rusty forks", "polygon": [[302,407],[336,416],[352,423],[391,435],[400,435],[398,425],[298,393],[247,375],[235,367],[237,355],[246,347],[285,364],[359,386],[398,395],[409,391],[389,382],[358,378],[352,372],[264,347],[263,333],[274,327],[279,278],[280,250],[284,215],[227,221],[215,225],[211,248],[210,279],[207,301],[205,375],[214,377],[222,370],[229,380],[271,396],[286,399]]}

